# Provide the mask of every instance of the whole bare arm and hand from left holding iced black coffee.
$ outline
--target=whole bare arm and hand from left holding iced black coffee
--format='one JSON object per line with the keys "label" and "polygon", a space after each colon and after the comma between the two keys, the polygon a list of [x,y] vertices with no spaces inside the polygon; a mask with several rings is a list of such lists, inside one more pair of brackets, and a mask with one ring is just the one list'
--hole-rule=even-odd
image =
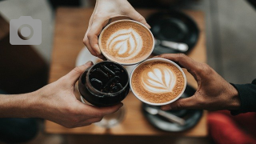
{"label": "whole bare arm and hand from left holding iced black coffee", "polygon": [[110,107],[85,105],[74,95],[79,76],[92,65],[87,62],[69,74],[29,94],[0,95],[0,118],[45,118],[69,128],[99,122],[116,112],[122,103]]}

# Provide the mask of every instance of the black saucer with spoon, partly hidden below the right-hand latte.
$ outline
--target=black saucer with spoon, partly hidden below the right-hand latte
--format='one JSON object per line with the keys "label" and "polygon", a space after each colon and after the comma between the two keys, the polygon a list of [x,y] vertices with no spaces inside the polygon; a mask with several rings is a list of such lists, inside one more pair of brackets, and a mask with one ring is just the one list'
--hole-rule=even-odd
{"label": "black saucer with spoon, partly hidden below the right-hand latte", "polygon": [[[195,93],[194,88],[187,85],[184,94],[182,94],[181,98],[188,98]],[[166,112],[170,114],[174,114],[180,118],[183,118],[186,123],[184,126],[180,126],[177,123],[170,122],[166,118],[158,114],[149,114],[146,112],[145,108],[147,105],[146,103],[142,104],[142,112],[146,119],[150,122],[151,125],[158,128],[159,130],[170,131],[170,132],[180,132],[184,130],[189,130],[193,126],[195,126],[199,120],[202,118],[202,110],[167,110]],[[157,109],[160,109],[160,106],[154,106]]]}

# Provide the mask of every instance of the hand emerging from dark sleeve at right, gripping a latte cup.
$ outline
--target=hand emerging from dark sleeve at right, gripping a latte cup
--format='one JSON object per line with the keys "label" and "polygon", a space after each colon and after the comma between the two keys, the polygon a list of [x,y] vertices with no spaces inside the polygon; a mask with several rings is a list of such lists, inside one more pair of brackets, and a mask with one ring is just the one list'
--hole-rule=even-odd
{"label": "hand emerging from dark sleeve at right, gripping a latte cup", "polygon": [[198,82],[198,90],[190,98],[180,98],[176,102],[162,106],[162,110],[204,109],[238,110],[238,91],[226,82],[216,71],[205,63],[195,62],[185,54],[162,54],[160,58],[170,59],[186,68]]}

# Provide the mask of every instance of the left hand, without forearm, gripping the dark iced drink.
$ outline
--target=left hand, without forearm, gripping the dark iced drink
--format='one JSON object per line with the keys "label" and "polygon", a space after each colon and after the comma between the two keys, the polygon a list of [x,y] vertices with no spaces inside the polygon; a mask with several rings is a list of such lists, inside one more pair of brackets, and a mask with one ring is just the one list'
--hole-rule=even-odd
{"label": "left hand, without forearm, gripping the dark iced drink", "polygon": [[87,62],[70,71],[58,81],[50,83],[34,93],[34,117],[46,118],[62,126],[72,128],[99,122],[106,114],[116,112],[122,103],[110,107],[83,104],[74,95],[74,85],[79,76],[91,65]]}

